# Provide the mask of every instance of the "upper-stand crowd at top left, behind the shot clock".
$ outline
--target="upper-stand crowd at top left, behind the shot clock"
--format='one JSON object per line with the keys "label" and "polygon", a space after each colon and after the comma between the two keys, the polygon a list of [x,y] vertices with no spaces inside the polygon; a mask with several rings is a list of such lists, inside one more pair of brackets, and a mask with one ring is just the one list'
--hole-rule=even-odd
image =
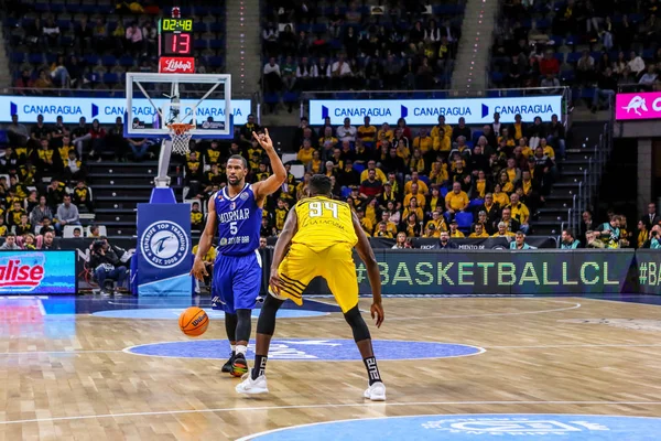
{"label": "upper-stand crowd at top left, behind the shot clock", "polygon": [[[223,72],[223,8],[199,3],[182,11],[194,21],[198,71]],[[10,1],[6,12],[4,37],[12,51],[17,88],[122,90],[127,72],[158,72],[161,11],[154,1],[98,6]],[[206,15],[189,15],[194,12]]]}

